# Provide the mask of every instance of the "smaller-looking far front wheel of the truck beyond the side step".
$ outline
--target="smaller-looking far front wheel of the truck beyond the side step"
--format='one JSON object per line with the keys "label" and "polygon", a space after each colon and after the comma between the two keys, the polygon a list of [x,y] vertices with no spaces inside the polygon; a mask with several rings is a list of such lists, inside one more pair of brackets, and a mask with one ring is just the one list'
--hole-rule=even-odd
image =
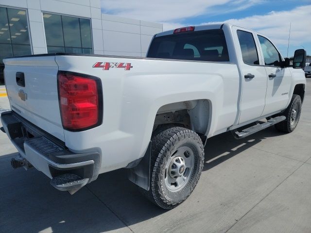
{"label": "smaller-looking far front wheel of the truck beyond the side step", "polygon": [[284,121],[275,124],[278,131],[285,133],[292,133],[297,127],[299,118],[301,114],[301,98],[299,95],[293,94],[290,105],[283,112],[283,116],[286,116]]}

